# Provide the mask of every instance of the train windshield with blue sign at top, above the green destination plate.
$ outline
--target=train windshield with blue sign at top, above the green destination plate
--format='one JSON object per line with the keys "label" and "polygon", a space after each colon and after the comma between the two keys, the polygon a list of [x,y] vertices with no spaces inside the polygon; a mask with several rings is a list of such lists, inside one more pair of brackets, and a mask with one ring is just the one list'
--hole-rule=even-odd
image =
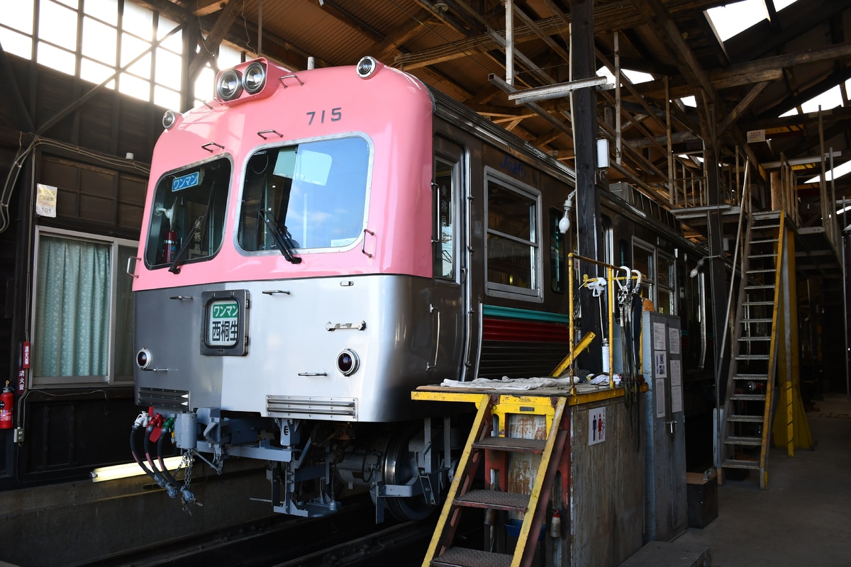
{"label": "train windshield with blue sign at top, above the green destination plate", "polygon": [[226,157],[168,173],[157,183],[145,251],[152,268],[209,258],[224,234],[231,161]]}

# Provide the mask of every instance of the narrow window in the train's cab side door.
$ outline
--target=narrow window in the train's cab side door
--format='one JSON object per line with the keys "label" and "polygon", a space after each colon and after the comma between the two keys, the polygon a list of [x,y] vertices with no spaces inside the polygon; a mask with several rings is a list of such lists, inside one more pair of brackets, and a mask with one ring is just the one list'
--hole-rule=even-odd
{"label": "narrow window in the train's cab side door", "polygon": [[455,192],[457,164],[434,161],[434,277],[455,279]]}

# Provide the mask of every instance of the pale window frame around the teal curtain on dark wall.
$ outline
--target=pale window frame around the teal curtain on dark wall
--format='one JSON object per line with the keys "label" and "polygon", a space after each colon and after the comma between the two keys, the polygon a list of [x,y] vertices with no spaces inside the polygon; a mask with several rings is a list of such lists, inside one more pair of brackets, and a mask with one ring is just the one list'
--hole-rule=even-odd
{"label": "pale window frame around the teal curtain on dark wall", "polygon": [[[125,275],[126,268],[119,265],[119,249],[121,247],[129,248],[134,255],[139,250],[139,241],[131,241],[126,238],[117,238],[114,236],[96,235],[92,233],[80,232],[77,230],[56,229],[36,225],[35,235],[33,240],[32,251],[32,284],[31,284],[31,305],[30,305],[30,336],[35,337],[37,325],[37,287],[39,283],[38,272],[38,257],[41,239],[43,236],[52,238],[60,238],[69,241],[83,241],[100,245],[110,246],[110,276],[109,276],[109,330],[106,346],[106,375],[94,376],[37,376],[36,369],[31,364],[31,371],[27,379],[27,388],[43,389],[69,386],[106,386],[106,387],[126,387],[132,386],[134,381],[133,372],[129,376],[116,376],[116,354],[117,354],[117,303],[118,303],[118,277]],[[132,301],[132,297],[131,297]],[[129,332],[134,332],[131,328]],[[132,343],[132,341],[131,341]],[[33,345],[35,346],[35,345]],[[131,349],[132,351],[132,349]],[[129,353],[132,356],[132,352]],[[132,366],[131,366],[132,367]]]}

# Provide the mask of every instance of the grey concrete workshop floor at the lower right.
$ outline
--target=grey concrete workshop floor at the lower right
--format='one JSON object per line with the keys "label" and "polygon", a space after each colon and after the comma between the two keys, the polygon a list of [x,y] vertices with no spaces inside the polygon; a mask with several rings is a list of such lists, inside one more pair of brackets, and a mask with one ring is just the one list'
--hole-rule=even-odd
{"label": "grey concrete workshop floor at the lower right", "polygon": [[709,547],[713,567],[851,565],[851,403],[825,395],[807,412],[813,451],[772,449],[768,490],[757,473],[718,487],[718,517],[677,538]]}

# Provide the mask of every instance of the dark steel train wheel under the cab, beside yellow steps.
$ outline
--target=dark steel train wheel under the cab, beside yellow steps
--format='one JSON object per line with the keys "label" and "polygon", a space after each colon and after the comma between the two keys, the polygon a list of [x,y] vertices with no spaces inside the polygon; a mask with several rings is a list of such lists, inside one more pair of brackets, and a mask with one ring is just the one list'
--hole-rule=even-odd
{"label": "dark steel train wheel under the cab, beside yellow steps", "polygon": [[[398,428],[391,434],[387,443],[387,453],[384,461],[384,481],[388,485],[414,485],[420,482],[420,468],[416,454],[408,449],[411,439],[423,436],[420,424],[408,428]],[[426,502],[425,496],[418,494],[406,498],[386,498],[387,510],[397,519],[420,520],[428,518],[437,506]]]}

